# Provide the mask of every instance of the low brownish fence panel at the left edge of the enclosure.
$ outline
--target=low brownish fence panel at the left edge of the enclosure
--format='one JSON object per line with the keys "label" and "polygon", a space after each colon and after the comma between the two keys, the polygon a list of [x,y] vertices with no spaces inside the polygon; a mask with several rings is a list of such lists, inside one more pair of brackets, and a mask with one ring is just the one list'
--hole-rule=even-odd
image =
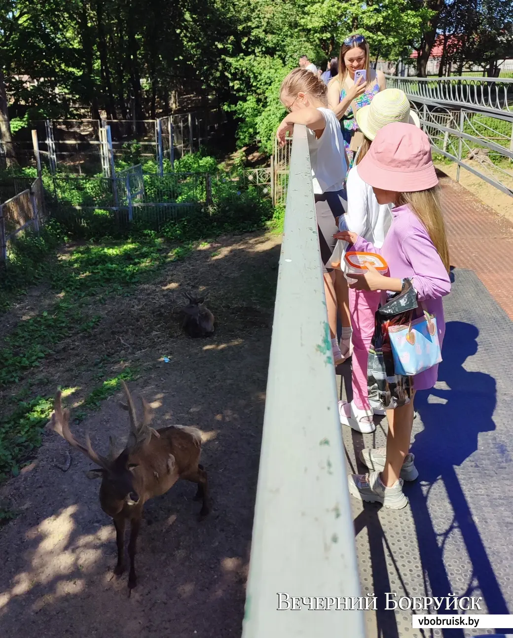
{"label": "low brownish fence panel at the left edge of the enclosure", "polygon": [[17,234],[29,228],[39,232],[43,211],[43,184],[39,177],[0,205],[0,262],[6,263],[9,242]]}

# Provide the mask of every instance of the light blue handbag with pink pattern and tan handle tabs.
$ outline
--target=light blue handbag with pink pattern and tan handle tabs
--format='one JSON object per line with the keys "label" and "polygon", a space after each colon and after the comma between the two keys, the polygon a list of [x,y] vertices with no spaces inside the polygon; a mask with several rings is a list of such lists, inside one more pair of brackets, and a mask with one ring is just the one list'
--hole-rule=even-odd
{"label": "light blue handbag with pink pattern and tan handle tabs", "polygon": [[389,339],[398,375],[418,375],[442,361],[436,316],[426,310],[410,323],[390,325]]}

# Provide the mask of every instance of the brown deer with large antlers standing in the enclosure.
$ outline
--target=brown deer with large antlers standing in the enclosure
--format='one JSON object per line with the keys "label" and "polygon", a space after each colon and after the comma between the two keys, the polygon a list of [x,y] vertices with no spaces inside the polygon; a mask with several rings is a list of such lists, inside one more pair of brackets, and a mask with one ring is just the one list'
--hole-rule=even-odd
{"label": "brown deer with large antlers standing in the enclosure", "polygon": [[101,479],[101,509],[112,516],[116,531],[117,565],[114,574],[121,575],[125,569],[124,530],[126,521],[130,521],[130,590],[137,584],[135,575],[135,544],[142,519],[145,501],[168,491],[178,479],[190,480],[198,484],[195,500],[202,500],[200,516],[209,513],[207,493],[207,473],[200,465],[201,433],[194,427],[169,426],[159,430],[150,427],[152,411],[142,399],[144,417],[138,423],[135,406],[126,384],[123,390],[128,404],[121,406],[128,410],[130,433],[126,447],[121,454],[115,454],[114,441],[110,440],[108,457],[94,452],[89,436],[85,445],[78,443],[70,431],[70,411],[63,410],[61,392],[57,392],[51,426],[63,438],[89,457],[100,469],[87,472],[89,479]]}

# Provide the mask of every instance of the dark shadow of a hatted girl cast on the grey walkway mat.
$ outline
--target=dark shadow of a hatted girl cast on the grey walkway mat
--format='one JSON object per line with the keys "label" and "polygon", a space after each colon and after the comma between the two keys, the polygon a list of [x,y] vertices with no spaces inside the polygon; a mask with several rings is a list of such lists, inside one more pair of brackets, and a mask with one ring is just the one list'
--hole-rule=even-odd
{"label": "dark shadow of a hatted girl cast on the grey walkway mat", "polygon": [[[411,449],[415,454],[419,481],[406,486],[405,491],[415,521],[422,569],[432,592],[427,595],[481,595],[489,614],[508,614],[507,604],[473,519],[473,512],[477,513],[482,496],[473,498],[471,510],[454,470],[476,452],[479,434],[493,431],[496,427],[492,418],[496,405],[494,378],[464,367],[466,359],[477,353],[478,336],[479,330],[470,323],[448,322],[446,325],[438,382],[435,388],[415,396],[415,408],[424,424],[424,430],[415,436]],[[439,480],[443,482],[447,497],[442,495],[443,490],[432,489]],[[465,485],[465,491],[474,496],[472,485]],[[438,515],[443,512],[447,514],[444,518],[447,521],[452,518],[452,522],[440,533],[435,531],[433,519],[439,519]],[[461,533],[471,563],[472,576],[465,592],[455,582],[454,572],[447,572],[444,562],[444,556],[449,554],[450,535],[455,530]],[[463,553],[461,565],[456,567],[463,568],[465,562]],[[465,571],[466,568],[463,568]],[[439,613],[454,611],[440,610]],[[463,631],[444,630],[443,636],[463,637]]]}

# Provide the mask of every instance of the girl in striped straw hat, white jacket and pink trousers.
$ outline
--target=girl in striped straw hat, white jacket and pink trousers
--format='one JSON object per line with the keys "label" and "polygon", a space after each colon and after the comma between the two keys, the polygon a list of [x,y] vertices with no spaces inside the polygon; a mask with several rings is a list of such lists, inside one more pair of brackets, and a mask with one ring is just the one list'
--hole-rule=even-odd
{"label": "girl in striped straw hat, white jacket and pink trousers", "polygon": [[[376,248],[382,248],[385,236],[392,223],[392,214],[388,204],[378,204],[374,191],[362,180],[357,170],[371,148],[376,133],[392,122],[410,122],[420,126],[419,117],[410,111],[410,102],[404,91],[385,89],[378,93],[369,106],[356,112],[359,130],[364,139],[355,158],[355,166],[347,175],[347,214],[343,221],[344,230],[350,230],[371,242]],[[342,229],[341,229],[342,230]],[[338,260],[343,258],[343,247]],[[373,410],[369,404],[367,387],[367,362],[369,347],[374,334],[375,313],[380,302],[380,293],[368,290],[349,290],[349,308],[353,328],[352,386],[353,400],[339,401],[340,422],[357,432],[375,431],[374,414],[384,411]]]}

